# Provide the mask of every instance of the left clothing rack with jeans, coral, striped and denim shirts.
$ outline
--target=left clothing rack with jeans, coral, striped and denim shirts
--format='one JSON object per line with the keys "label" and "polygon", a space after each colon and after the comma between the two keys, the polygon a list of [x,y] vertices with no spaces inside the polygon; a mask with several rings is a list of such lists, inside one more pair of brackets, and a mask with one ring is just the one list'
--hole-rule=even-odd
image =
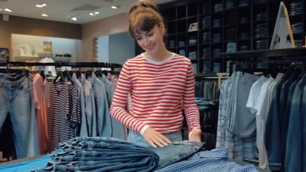
{"label": "left clothing rack with jeans, coral, striped and denim shirts", "polygon": [[[0,68],[0,118],[3,118],[0,128],[8,117],[11,119],[9,132],[2,133],[13,130],[16,134],[15,137],[4,136],[14,138],[11,142],[15,147],[0,144],[0,151],[15,148],[19,159],[52,152],[59,142],[76,136],[126,139],[123,125],[109,114],[118,78],[111,73],[116,68],[120,70],[121,64],[7,61],[0,66],[6,67]],[[110,68],[111,71],[65,70],[55,73],[55,79],[48,82],[44,68],[38,68],[43,72],[21,69],[30,66]],[[12,151],[9,155],[4,152],[6,157],[11,156],[10,153]]]}

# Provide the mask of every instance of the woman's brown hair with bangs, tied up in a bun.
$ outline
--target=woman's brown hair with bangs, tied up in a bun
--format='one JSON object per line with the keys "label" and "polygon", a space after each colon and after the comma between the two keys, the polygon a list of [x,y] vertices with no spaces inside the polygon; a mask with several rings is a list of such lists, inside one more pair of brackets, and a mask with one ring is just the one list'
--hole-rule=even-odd
{"label": "woman's brown hair with bangs, tied up in a bun", "polygon": [[150,0],[138,1],[130,8],[128,16],[129,33],[133,39],[135,39],[135,33],[150,31],[155,25],[160,26],[163,23],[158,6]]}

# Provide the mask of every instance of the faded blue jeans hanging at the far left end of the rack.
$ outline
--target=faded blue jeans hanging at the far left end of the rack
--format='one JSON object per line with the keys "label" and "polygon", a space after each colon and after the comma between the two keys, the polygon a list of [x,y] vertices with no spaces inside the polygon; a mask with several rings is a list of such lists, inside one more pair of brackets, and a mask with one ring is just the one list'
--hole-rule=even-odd
{"label": "faded blue jeans hanging at the far left end of the rack", "polygon": [[[39,154],[31,75],[0,74],[0,130],[10,114],[17,158]],[[14,81],[12,81],[14,80]]]}

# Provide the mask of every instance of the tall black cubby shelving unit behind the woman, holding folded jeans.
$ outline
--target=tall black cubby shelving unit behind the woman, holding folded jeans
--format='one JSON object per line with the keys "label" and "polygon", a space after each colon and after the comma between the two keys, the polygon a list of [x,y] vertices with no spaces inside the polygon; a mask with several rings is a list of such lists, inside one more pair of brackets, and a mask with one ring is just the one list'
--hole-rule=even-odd
{"label": "tall black cubby shelving unit behind the woman, holding folded jeans", "polygon": [[[180,50],[185,51],[185,56],[189,57],[189,53],[195,51],[196,59],[191,60],[197,64],[197,72],[203,72],[203,64],[208,63],[210,72],[213,70],[213,63],[221,63],[221,71],[226,72],[226,62],[228,60],[241,60],[239,51],[241,46],[246,45],[250,51],[259,50],[256,48],[256,41],[264,40],[268,44],[264,49],[270,47],[274,27],[277,19],[277,13],[280,5],[280,0],[249,0],[248,6],[241,6],[241,0],[230,0],[234,2],[234,7],[225,9],[228,0],[190,0],[190,1],[175,1],[161,6],[161,13],[167,28],[165,35],[165,44],[168,50],[180,54]],[[263,3],[257,3],[263,2]],[[288,12],[292,2],[302,2],[301,15],[289,16],[290,24],[302,22],[302,32],[294,34],[294,39],[301,39],[302,44],[305,42],[305,19],[306,19],[306,0],[284,0],[283,1]],[[222,4],[222,11],[215,12],[215,4]],[[257,21],[256,15],[267,13],[267,18]],[[248,21],[241,22],[242,17],[247,17]],[[207,18],[207,25],[202,26],[202,21]],[[220,19],[219,26],[213,26],[213,21]],[[191,23],[198,23],[198,30],[188,32]],[[267,24],[267,30],[262,37],[256,37],[256,26],[258,24]],[[233,29],[234,34],[228,34],[227,30]],[[203,40],[203,34],[210,34],[209,41]],[[213,41],[213,34],[221,34],[219,41]],[[241,33],[249,33],[249,38],[241,39]],[[229,40],[228,36],[232,39]],[[189,39],[196,39],[194,45],[189,44]],[[170,47],[170,41],[174,41],[174,47]],[[184,46],[179,46],[179,42],[184,41]],[[237,53],[226,54],[227,44],[236,43]],[[136,55],[142,52],[141,48],[136,44]],[[206,49],[208,56],[203,57],[203,49]],[[220,49],[221,55],[214,57],[213,50]],[[261,50],[259,50],[261,51]],[[184,55],[184,54],[183,54]],[[238,55],[238,56],[236,56]],[[264,56],[263,56],[264,57]],[[254,60],[255,57],[248,56],[245,60]]]}

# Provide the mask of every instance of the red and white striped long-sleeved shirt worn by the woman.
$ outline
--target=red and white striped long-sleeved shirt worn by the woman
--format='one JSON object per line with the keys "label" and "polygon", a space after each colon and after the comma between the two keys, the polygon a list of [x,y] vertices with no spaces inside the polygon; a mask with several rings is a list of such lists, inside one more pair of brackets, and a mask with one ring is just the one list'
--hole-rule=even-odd
{"label": "red and white striped long-sleeved shirt worn by the woman", "polygon": [[[127,112],[129,93],[132,108]],[[173,53],[167,60],[155,62],[141,54],[123,65],[110,114],[139,134],[148,127],[161,133],[175,132],[182,128],[184,120],[182,103],[189,132],[201,129],[190,60]]]}

